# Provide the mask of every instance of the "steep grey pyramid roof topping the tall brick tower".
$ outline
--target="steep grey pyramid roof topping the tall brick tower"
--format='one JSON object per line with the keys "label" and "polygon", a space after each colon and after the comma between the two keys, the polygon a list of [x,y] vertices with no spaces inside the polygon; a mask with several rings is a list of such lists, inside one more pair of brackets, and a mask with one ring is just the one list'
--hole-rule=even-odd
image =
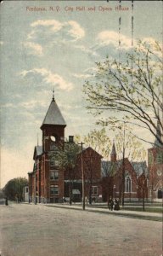
{"label": "steep grey pyramid roof topping the tall brick tower", "polygon": [[[59,110],[59,107],[57,103],[54,100],[54,96],[52,98],[52,102],[50,103],[50,106],[48,108],[48,112],[46,113],[46,116],[43,120],[42,126],[43,125],[64,125],[65,124],[65,119],[62,116],[62,113]],[[42,128],[41,126],[41,128]]]}

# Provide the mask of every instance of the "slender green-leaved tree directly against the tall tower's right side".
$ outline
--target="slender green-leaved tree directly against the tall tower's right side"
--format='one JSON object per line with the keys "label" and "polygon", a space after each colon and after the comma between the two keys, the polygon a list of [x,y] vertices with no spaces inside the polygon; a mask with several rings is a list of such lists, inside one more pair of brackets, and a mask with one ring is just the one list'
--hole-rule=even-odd
{"label": "slender green-leaved tree directly against the tall tower's right side", "polygon": [[69,179],[70,205],[72,203],[76,156],[79,152],[80,148],[76,143],[65,143],[64,147],[59,148],[59,166],[65,170],[65,177],[68,177]]}

